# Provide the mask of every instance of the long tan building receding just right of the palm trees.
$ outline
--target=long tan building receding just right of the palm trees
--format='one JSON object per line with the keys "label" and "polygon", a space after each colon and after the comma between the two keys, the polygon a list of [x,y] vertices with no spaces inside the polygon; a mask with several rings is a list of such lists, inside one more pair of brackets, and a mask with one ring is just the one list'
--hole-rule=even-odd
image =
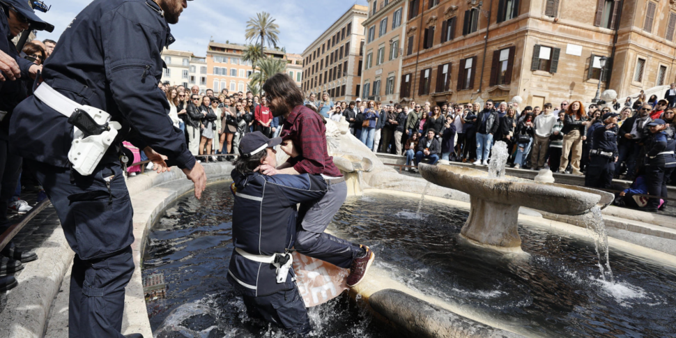
{"label": "long tan building receding just right of the palm trees", "polygon": [[306,97],[324,91],[335,101],[359,97],[362,22],[367,18],[367,10],[367,6],[352,6],[302,53],[301,89]]}

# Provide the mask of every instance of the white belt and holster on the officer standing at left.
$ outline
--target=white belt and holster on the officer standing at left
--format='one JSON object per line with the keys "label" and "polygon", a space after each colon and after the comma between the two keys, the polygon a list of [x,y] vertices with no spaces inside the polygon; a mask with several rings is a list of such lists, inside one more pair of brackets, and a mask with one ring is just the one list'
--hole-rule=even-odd
{"label": "white belt and holster on the officer standing at left", "polygon": [[70,151],[68,151],[68,160],[72,163],[72,169],[75,169],[79,174],[83,176],[91,175],[108,150],[108,147],[113,143],[117,136],[117,131],[122,128],[122,125],[118,122],[110,121],[110,114],[107,112],[95,107],[80,105],[55,91],[44,82],[38,86],[34,94],[45,105],[63,114],[66,118],[70,118],[76,109],[81,109],[89,114],[99,125],[109,125],[110,128],[105,132],[89,137],[84,137],[84,133],[77,127],[74,127],[73,140],[70,145]]}

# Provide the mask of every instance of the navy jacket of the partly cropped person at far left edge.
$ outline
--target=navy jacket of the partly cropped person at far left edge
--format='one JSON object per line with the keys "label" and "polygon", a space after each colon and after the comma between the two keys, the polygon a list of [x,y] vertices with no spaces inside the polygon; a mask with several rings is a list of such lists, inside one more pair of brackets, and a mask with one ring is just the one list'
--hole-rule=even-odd
{"label": "navy jacket of the partly cropped person at far left edge", "polygon": [[12,35],[10,33],[7,17],[2,10],[0,10],[0,50],[15,59],[21,70],[20,79],[10,81],[5,75],[6,81],[0,82],[0,111],[7,112],[5,118],[0,122],[0,139],[7,140],[10,116],[19,102],[26,98],[26,87],[24,83],[33,83],[29,74],[29,69],[33,66],[33,63],[22,58],[19,51],[17,51],[17,47],[12,42]]}

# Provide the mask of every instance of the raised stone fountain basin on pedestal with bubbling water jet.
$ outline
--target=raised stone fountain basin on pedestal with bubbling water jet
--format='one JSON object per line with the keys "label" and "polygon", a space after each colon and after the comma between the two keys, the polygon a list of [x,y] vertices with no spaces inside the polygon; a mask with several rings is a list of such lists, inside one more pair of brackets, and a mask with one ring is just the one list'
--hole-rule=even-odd
{"label": "raised stone fountain basin on pedestal with bubbling water jet", "polygon": [[613,194],[587,187],[535,183],[513,177],[507,179],[501,176],[505,171],[502,160],[506,160],[502,150],[507,153],[506,147],[502,149],[500,146],[491,158],[491,162],[499,159],[500,163],[496,163],[489,176],[484,171],[468,167],[418,165],[420,174],[429,182],[470,195],[470,216],[461,236],[471,243],[506,252],[520,252],[521,237],[517,228],[519,206],[560,215],[582,215],[594,206],[604,207],[613,201]]}

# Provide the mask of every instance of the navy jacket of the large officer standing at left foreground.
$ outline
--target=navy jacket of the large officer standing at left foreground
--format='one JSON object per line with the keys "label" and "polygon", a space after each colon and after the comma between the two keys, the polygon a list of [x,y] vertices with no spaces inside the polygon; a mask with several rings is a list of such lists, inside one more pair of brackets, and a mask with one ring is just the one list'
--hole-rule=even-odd
{"label": "navy jacket of the large officer standing at left foreground", "polygon": [[[140,149],[151,146],[169,157],[169,165],[192,169],[195,159],[158,89],[164,66],[160,53],[173,42],[154,1],[94,0],[61,34],[45,62],[43,80],[70,100],[102,109],[120,122],[118,144],[127,139]],[[68,167],[72,129],[66,116],[31,96],[12,116],[10,151]]]}

